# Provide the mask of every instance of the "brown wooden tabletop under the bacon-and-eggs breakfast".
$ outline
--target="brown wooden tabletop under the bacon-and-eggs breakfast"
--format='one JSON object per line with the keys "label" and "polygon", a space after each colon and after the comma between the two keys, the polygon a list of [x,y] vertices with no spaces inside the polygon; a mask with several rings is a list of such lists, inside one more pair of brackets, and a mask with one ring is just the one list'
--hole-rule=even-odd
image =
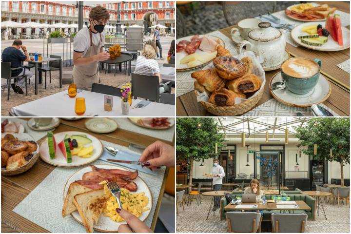
{"label": "brown wooden tabletop under the bacon-and-eggs breakfast", "polygon": [[[25,118],[29,119],[29,118]],[[109,141],[115,144],[128,147],[131,144],[139,146],[148,146],[155,142],[156,138],[132,133],[126,130],[117,129],[109,134],[96,134],[89,132],[84,125],[85,119],[77,121],[61,120],[61,124],[54,131],[55,133],[66,131],[87,132],[99,140]],[[168,144],[174,145],[173,142],[162,140]],[[40,140],[39,140],[40,143]],[[40,157],[34,166],[27,172],[17,176],[1,176],[1,231],[7,233],[48,233],[47,230],[37,224],[14,213],[12,210],[29,195],[40,182],[48,176],[56,167],[45,163]],[[158,212],[160,209],[163,193],[166,186],[166,179],[169,168],[165,171],[162,181],[160,194],[156,203],[156,210],[151,223],[151,229],[155,230]],[[61,215],[61,214],[58,214]]]}

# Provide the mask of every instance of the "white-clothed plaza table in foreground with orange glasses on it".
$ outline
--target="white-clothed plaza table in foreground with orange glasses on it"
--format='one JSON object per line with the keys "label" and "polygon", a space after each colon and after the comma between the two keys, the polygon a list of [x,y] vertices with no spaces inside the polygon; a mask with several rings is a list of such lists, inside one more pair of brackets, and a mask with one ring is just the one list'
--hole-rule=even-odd
{"label": "white-clothed plaza table in foreground with orange glasses on it", "polygon": [[[67,90],[39,98],[34,101],[15,106],[10,111],[10,116],[55,116],[55,117],[83,117],[83,116],[124,116],[122,115],[121,98],[113,96],[112,111],[104,110],[104,94],[91,91],[78,90],[76,98],[85,98],[86,112],[77,115],[75,112],[76,98],[70,98]],[[151,102],[144,108],[133,108],[141,99],[133,99],[128,117],[174,117],[175,106]]]}

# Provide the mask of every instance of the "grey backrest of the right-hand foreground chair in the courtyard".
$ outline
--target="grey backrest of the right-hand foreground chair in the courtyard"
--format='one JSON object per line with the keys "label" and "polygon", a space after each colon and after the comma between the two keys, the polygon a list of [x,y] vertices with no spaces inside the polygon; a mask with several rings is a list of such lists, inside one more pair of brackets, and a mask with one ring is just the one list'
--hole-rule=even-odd
{"label": "grey backrest of the right-hand foreground chair in the courtyard", "polygon": [[304,233],[307,214],[272,214],[273,233]]}

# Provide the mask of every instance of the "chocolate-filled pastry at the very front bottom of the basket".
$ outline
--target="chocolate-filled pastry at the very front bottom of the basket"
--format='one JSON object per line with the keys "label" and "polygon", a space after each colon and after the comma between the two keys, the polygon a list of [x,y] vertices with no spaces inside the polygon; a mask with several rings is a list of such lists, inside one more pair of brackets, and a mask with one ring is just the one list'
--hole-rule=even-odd
{"label": "chocolate-filled pastry at the very front bottom of the basket", "polygon": [[228,89],[218,89],[212,93],[209,102],[217,106],[233,106],[235,98],[246,98],[245,94],[234,93]]}

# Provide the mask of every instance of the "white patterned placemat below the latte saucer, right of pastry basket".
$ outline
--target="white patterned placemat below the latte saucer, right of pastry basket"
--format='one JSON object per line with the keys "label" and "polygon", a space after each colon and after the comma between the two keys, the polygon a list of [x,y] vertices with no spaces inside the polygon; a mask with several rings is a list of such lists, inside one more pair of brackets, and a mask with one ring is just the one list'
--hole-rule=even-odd
{"label": "white patterned placemat below the latte saucer, right of pastry basket", "polygon": [[[329,107],[324,104],[318,104],[326,108],[334,116],[338,116]],[[295,107],[285,105],[274,98],[266,101],[265,103],[257,106],[251,111],[245,113],[242,116],[297,116],[296,113],[300,112],[304,116],[313,116],[312,109],[310,107]]]}

